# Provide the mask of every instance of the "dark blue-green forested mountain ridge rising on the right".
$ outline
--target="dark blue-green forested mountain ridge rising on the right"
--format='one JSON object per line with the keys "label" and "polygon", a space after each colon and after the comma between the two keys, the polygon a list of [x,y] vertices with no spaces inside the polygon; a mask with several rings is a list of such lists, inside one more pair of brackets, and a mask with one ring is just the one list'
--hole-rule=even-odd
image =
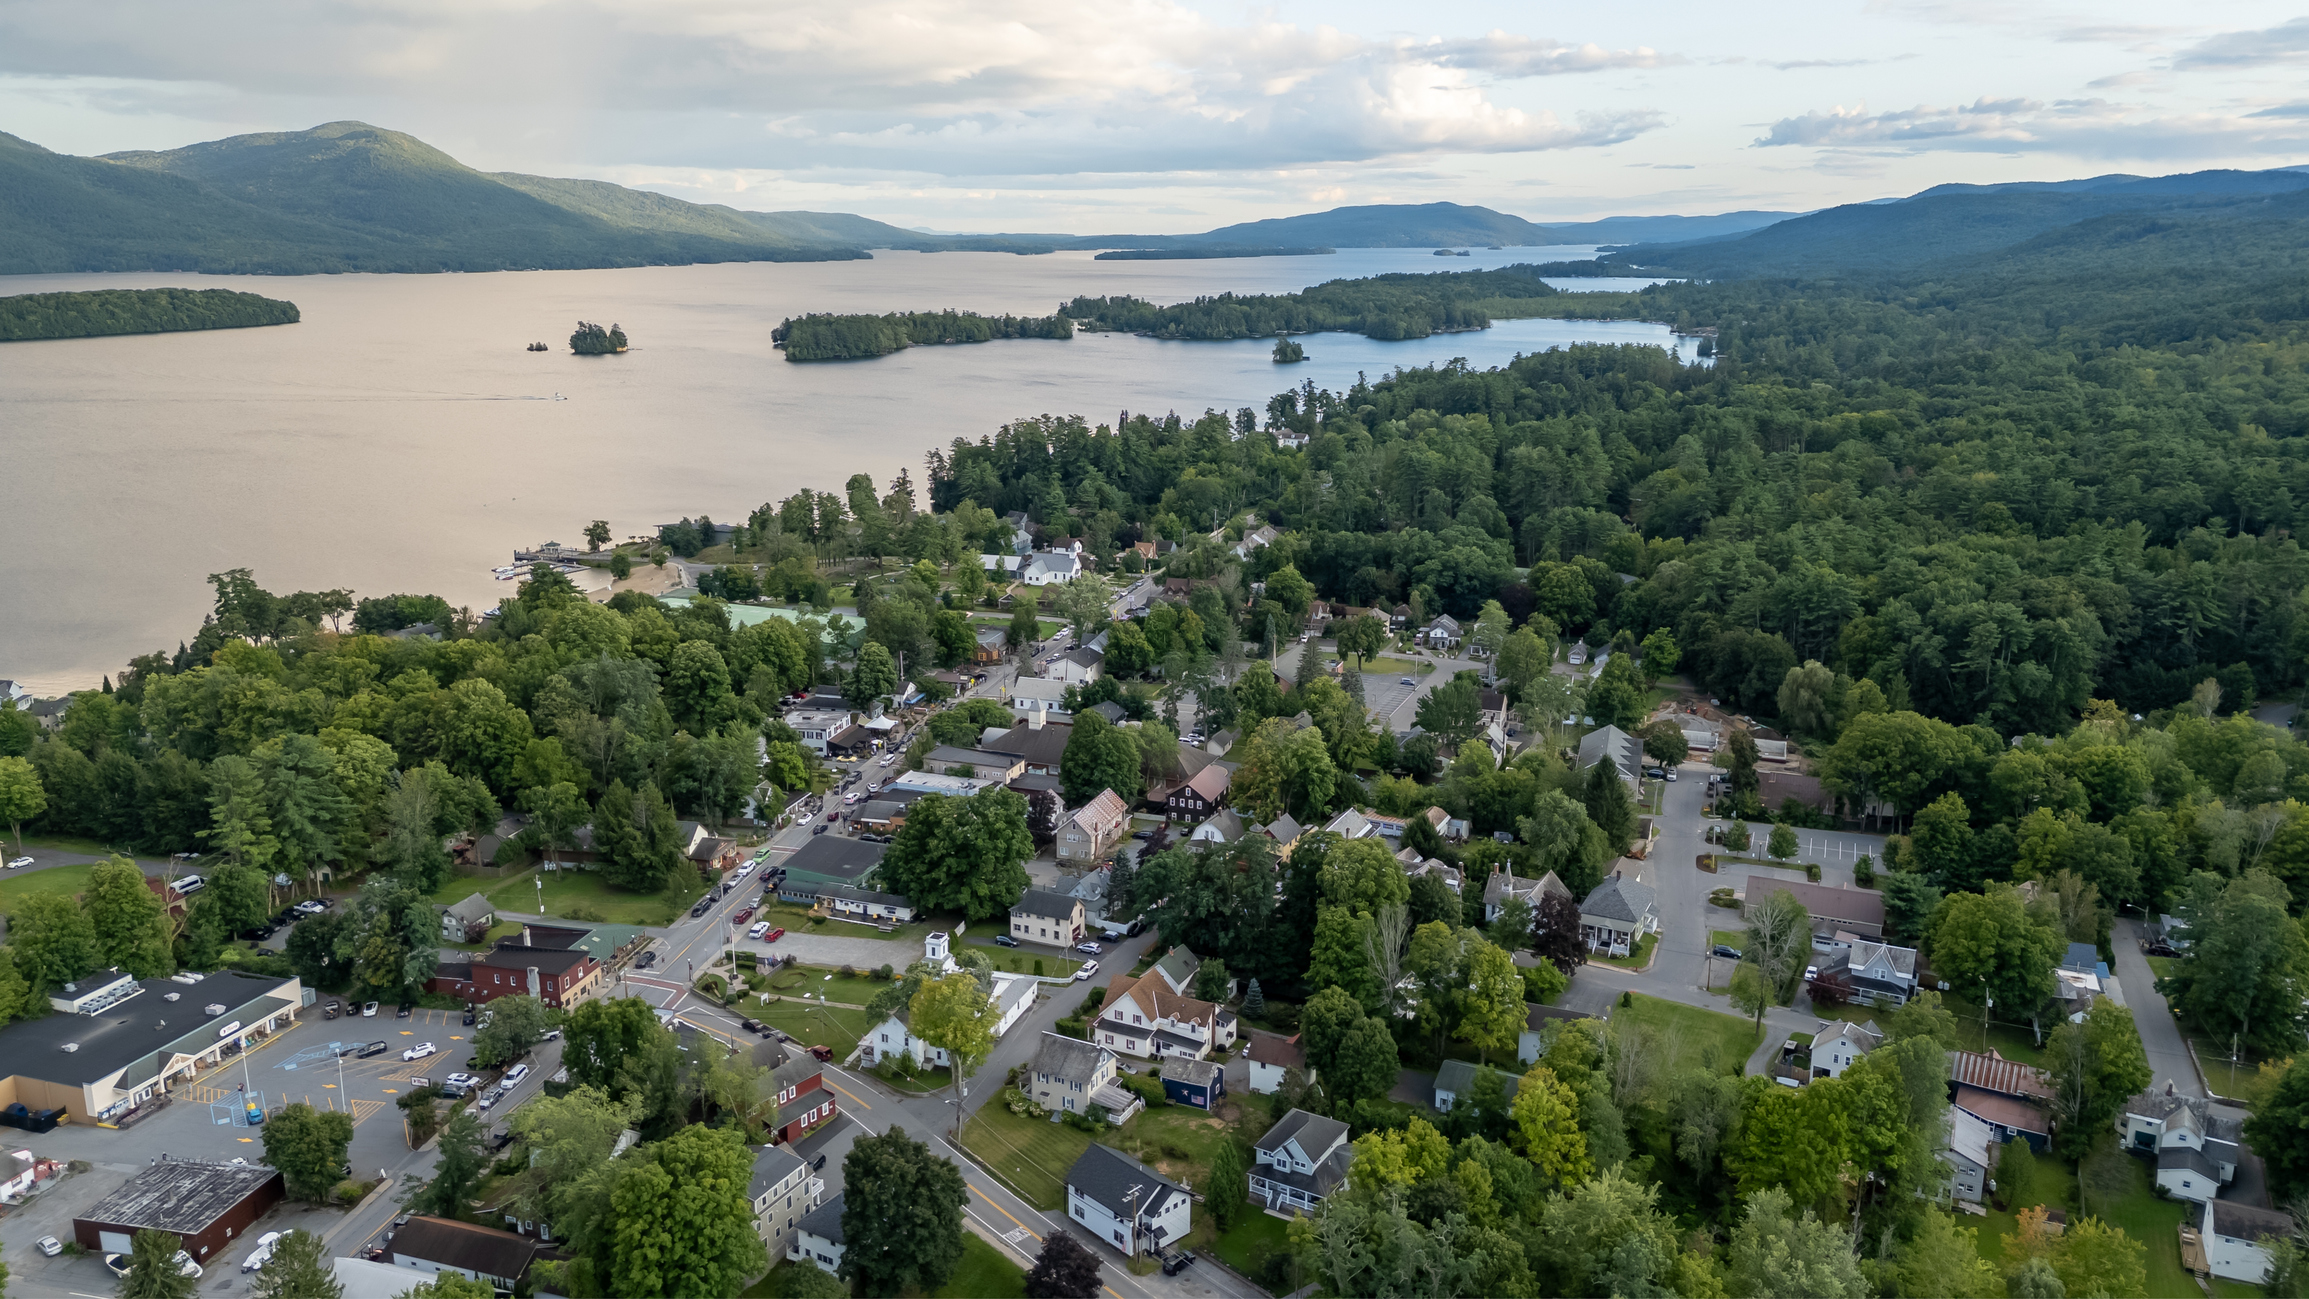
{"label": "dark blue-green forested mountain ridge rising on the right", "polygon": [[[2300,171],[2198,171],[2083,182],[1935,187],[1898,201],[1847,203],[1792,217],[1723,240],[1637,245],[1612,265],[1669,270],[1709,279],[1903,275],[1921,268],[1963,270],[2000,256],[2069,261],[2113,231],[2152,219],[2159,228],[2256,219],[2270,203],[2309,189]],[[2108,221],[2108,224],[2099,224]],[[2083,231],[2076,240],[2057,231]],[[2094,233],[2097,231],[2097,233]],[[2210,231],[2205,238],[2224,238]],[[2046,240],[2032,245],[2032,240]],[[2023,254],[2030,247],[2034,251]],[[2166,247],[2182,247],[2166,240]],[[2062,251],[2067,249],[2067,251]],[[2094,254],[2099,256],[2099,254]]]}

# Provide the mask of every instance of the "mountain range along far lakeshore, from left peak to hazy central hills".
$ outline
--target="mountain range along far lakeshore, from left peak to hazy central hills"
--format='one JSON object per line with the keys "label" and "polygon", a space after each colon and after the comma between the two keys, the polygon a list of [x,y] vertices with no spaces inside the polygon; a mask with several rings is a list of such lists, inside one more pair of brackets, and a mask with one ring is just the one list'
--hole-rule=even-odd
{"label": "mountain range along far lakeshore, from left peak to hazy central hills", "polygon": [[866,249],[1154,249],[1245,256],[1330,247],[1526,247],[1711,238],[1783,219],[1614,217],[1538,226],[1462,203],[1388,203],[1198,235],[931,235],[847,212],[743,212],[600,180],[476,171],[367,122],[72,157],[0,134],[0,275],[556,270],[838,261]]}

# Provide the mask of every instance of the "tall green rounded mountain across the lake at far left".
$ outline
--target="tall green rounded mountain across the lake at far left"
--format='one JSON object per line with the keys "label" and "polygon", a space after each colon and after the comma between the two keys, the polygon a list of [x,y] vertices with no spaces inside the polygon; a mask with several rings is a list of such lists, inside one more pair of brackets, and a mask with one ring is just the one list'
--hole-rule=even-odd
{"label": "tall green rounded mountain across the lake at far left", "polygon": [[0,136],[0,272],[7,275],[427,272],[866,256],[859,240],[829,238],[810,221],[780,217],[806,215],[737,212],[598,180],[473,171],[425,141],[365,122],[106,157],[69,157]]}

